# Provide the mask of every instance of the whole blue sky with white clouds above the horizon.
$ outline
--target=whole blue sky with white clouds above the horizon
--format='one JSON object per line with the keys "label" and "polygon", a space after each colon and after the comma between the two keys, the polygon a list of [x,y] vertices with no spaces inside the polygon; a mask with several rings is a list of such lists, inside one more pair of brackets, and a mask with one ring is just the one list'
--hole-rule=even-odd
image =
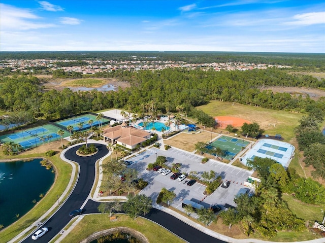
{"label": "whole blue sky with white clouds above the horizon", "polygon": [[325,53],[325,2],[1,0],[0,50]]}

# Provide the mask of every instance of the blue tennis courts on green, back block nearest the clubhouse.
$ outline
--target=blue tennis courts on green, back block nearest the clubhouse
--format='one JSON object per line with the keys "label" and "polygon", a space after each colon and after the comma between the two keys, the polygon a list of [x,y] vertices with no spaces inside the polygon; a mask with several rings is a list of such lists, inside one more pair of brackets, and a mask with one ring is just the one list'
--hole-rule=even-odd
{"label": "blue tennis courts on green, back block nearest the clubhouse", "polygon": [[[89,122],[91,120],[91,122]],[[57,124],[59,127],[64,127],[67,129],[67,126],[72,126],[73,131],[82,131],[90,129],[91,126],[99,126],[100,124],[105,125],[110,123],[110,119],[102,118],[101,120],[96,120],[96,116],[92,114],[85,114],[82,116],[75,116],[68,119],[55,121],[54,123]],[[101,123],[102,122],[102,123]]]}

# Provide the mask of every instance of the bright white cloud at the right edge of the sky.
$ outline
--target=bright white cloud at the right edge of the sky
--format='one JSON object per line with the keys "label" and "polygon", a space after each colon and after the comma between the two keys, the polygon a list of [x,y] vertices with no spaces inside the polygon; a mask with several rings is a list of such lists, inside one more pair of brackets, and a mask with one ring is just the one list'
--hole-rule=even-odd
{"label": "bright white cloud at the right edge of the sky", "polygon": [[296,14],[294,21],[285,22],[288,25],[312,25],[325,24],[325,12],[312,12],[305,14]]}

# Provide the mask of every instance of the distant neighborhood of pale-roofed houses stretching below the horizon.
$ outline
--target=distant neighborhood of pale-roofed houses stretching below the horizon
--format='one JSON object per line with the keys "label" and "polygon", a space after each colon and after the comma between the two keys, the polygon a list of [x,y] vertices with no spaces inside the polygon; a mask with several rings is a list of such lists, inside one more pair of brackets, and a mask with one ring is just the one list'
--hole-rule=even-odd
{"label": "distant neighborhood of pale-roofed houses stretching below the horizon", "polygon": [[78,66],[58,66],[57,63],[74,63],[77,60],[57,60],[57,59],[34,59],[34,60],[1,60],[0,69],[9,67],[12,68],[12,72],[34,72],[33,68],[42,68],[48,71],[64,70],[64,72],[76,72],[82,74],[95,74],[100,72],[112,72],[116,70],[127,70],[127,71],[140,71],[140,70],[163,70],[165,68],[184,67],[189,70],[201,68],[203,70],[210,70],[213,68],[215,71],[226,70],[226,71],[246,71],[253,69],[266,69],[268,67],[278,68],[290,68],[291,66],[284,65],[270,65],[270,64],[255,64],[255,63],[244,63],[244,62],[224,62],[224,63],[187,63],[184,61],[158,61],[158,60],[135,60],[128,61],[114,61],[114,60],[83,60],[87,65]]}

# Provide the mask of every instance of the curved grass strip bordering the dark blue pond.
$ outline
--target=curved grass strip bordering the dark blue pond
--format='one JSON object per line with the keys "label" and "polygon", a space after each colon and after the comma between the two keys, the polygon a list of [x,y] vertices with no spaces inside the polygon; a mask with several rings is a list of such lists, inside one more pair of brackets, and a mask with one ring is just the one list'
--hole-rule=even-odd
{"label": "curved grass strip bordering the dark blue pond", "polygon": [[[37,158],[44,157],[44,154],[28,154],[28,155],[18,155],[18,156],[2,156],[2,158]],[[0,242],[8,242],[10,239],[15,237],[18,233],[23,231],[27,226],[31,225],[35,221],[37,221],[43,214],[46,213],[50,209],[50,207],[57,203],[57,196],[61,195],[63,191],[68,186],[72,167],[70,164],[63,162],[59,154],[56,154],[52,157],[46,157],[48,160],[52,161],[56,168],[56,179],[53,187],[50,191],[39,201],[32,210],[30,210],[27,214],[22,216],[18,221],[11,224],[7,228],[3,229],[0,234]]]}

